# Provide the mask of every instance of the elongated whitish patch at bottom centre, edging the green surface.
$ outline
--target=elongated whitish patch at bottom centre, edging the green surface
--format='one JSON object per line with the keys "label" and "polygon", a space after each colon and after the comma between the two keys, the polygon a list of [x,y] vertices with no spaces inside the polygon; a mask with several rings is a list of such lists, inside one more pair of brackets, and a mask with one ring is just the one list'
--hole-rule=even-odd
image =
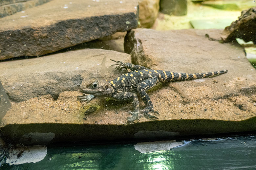
{"label": "elongated whitish patch at bottom centre, edging the green surface", "polygon": [[160,150],[170,150],[174,147],[181,146],[183,142],[171,141],[156,141],[156,142],[141,142],[134,145],[134,148],[140,153],[154,152]]}

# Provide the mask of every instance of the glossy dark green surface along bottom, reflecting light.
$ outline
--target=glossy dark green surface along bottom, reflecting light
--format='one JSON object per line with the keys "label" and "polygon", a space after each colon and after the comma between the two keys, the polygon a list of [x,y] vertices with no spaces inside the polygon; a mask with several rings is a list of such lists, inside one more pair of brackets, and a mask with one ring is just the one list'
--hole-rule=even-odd
{"label": "glossy dark green surface along bottom, reflecting light", "polygon": [[[136,144],[136,143],[134,143]],[[4,164],[6,170],[256,169],[256,136],[183,141],[166,151],[140,153],[133,144],[48,146],[36,163]]]}

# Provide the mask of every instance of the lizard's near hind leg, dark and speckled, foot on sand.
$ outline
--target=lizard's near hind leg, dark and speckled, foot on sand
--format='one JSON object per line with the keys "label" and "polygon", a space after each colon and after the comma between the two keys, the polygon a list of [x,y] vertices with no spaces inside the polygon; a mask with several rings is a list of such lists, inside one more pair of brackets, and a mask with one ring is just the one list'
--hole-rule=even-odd
{"label": "lizard's near hind leg, dark and speckled, foot on sand", "polygon": [[157,82],[158,82],[158,78],[152,77],[152,78],[146,79],[145,81],[141,82],[137,87],[137,91],[139,92],[139,95],[141,96],[143,102],[146,105],[146,107],[144,109],[140,110],[140,113],[148,118],[154,118],[154,119],[158,119],[158,118],[154,115],[149,114],[149,112],[153,112],[153,113],[157,113],[157,114],[159,114],[159,113],[154,110],[153,104],[152,104],[148,94],[145,91],[154,87],[157,84]]}

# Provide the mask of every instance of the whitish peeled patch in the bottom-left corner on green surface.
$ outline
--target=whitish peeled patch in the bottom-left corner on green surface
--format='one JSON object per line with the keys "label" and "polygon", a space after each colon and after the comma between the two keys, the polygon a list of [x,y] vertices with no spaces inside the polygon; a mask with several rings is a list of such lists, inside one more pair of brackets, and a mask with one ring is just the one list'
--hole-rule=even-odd
{"label": "whitish peeled patch in the bottom-left corner on green surface", "polygon": [[22,163],[38,162],[44,159],[47,154],[46,146],[19,147],[10,151],[6,163],[18,165]]}

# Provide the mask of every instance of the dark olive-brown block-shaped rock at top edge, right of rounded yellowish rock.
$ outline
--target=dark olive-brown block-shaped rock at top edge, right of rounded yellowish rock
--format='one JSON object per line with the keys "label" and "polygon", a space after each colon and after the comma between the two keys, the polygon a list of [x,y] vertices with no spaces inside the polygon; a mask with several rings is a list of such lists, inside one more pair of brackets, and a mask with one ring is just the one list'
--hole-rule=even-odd
{"label": "dark olive-brown block-shaped rock at top edge, right of rounded yellowish rock", "polygon": [[169,15],[186,15],[187,0],[160,0],[160,11]]}

